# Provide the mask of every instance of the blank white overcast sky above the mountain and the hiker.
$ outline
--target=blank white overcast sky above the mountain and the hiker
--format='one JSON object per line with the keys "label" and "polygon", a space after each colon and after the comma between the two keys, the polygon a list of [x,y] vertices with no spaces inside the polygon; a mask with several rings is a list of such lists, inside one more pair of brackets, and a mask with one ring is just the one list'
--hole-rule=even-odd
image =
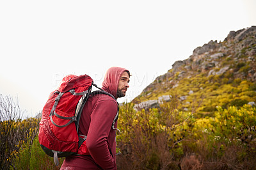
{"label": "blank white overcast sky above the mountain and the hiker", "polygon": [[0,1],[0,94],[29,116],[70,73],[132,73],[130,102],[196,47],[256,26],[256,1]]}

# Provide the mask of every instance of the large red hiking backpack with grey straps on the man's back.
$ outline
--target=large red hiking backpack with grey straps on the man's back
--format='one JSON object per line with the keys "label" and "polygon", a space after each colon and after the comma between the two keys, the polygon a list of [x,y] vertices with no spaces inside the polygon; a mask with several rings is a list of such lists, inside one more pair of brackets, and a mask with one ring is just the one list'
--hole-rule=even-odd
{"label": "large red hiking backpack with grey straps on the man's back", "polygon": [[[86,148],[86,136],[78,135],[79,120],[84,104],[90,95],[110,93],[102,89],[93,91],[93,80],[88,75],[67,75],[56,91],[52,91],[42,111],[39,128],[39,143],[47,155],[54,157],[58,166],[58,157],[68,155],[90,155]],[[115,99],[115,97],[113,97]],[[112,123],[118,119],[118,112]]]}

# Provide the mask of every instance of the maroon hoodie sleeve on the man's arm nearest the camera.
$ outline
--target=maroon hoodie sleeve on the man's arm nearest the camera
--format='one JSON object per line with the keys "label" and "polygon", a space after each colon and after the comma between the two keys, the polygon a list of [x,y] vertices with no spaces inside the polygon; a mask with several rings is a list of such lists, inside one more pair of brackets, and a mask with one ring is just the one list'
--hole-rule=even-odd
{"label": "maroon hoodie sleeve on the man's arm nearest the camera", "polygon": [[[86,146],[93,160],[103,169],[116,169],[116,162],[108,144],[111,125],[117,112],[114,100],[101,100],[95,103]],[[113,153],[115,154],[115,153]]]}

